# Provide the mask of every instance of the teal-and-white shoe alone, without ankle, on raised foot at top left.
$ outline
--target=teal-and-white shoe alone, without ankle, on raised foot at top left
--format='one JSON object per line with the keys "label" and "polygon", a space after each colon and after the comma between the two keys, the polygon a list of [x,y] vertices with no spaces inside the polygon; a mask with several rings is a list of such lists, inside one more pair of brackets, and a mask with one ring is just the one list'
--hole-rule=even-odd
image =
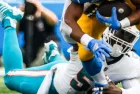
{"label": "teal-and-white shoe alone, without ankle, on raised foot at top left", "polygon": [[23,17],[23,12],[16,7],[11,7],[7,3],[0,1],[0,17],[1,19],[10,17],[15,21],[19,21]]}

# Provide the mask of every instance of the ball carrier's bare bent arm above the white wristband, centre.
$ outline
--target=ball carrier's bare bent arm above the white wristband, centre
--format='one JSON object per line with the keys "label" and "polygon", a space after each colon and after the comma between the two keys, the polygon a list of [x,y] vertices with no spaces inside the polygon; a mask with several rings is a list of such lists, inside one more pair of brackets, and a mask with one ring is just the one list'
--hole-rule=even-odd
{"label": "ball carrier's bare bent arm above the white wristband, centre", "polygon": [[[66,12],[64,14],[64,24],[68,25],[71,31],[66,31],[67,33],[70,33],[70,37],[74,39],[77,42],[80,42],[81,37],[84,35],[81,28],[77,24],[78,19],[81,17],[83,13],[83,4],[78,4],[75,2],[71,2],[69,7],[66,9]],[[63,26],[65,26],[63,25]],[[65,32],[65,30],[62,28],[62,32]]]}

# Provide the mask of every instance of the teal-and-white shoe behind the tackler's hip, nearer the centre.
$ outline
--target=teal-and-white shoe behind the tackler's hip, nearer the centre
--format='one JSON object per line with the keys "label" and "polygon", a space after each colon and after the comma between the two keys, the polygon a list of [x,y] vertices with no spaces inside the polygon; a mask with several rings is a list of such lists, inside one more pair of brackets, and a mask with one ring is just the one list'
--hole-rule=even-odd
{"label": "teal-and-white shoe behind the tackler's hip, nearer the centre", "polygon": [[43,56],[44,63],[48,63],[52,56],[59,55],[58,46],[54,41],[45,43],[45,53]]}

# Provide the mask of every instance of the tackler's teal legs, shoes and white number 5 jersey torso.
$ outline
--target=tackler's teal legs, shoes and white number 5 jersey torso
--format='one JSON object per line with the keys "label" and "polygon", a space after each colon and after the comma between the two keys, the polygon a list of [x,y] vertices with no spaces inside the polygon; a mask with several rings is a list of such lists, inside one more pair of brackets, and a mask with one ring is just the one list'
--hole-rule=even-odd
{"label": "tackler's teal legs, shoes and white number 5 jersey torso", "polygon": [[9,89],[23,94],[92,92],[93,79],[83,70],[78,52],[71,50],[71,59],[67,61],[60,56],[57,45],[53,41],[45,44],[48,64],[24,69],[16,34],[16,23],[22,18],[23,13],[0,1],[0,14],[4,28],[4,82]]}

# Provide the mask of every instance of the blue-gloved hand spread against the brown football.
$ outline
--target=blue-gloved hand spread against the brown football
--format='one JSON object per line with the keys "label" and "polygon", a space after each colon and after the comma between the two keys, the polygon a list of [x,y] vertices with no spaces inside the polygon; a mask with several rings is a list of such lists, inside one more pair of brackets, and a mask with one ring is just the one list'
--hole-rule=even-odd
{"label": "blue-gloved hand spread against the brown football", "polygon": [[99,11],[96,11],[96,18],[103,24],[110,26],[113,30],[121,28],[121,24],[117,18],[116,7],[112,8],[112,15],[110,18],[102,16]]}

